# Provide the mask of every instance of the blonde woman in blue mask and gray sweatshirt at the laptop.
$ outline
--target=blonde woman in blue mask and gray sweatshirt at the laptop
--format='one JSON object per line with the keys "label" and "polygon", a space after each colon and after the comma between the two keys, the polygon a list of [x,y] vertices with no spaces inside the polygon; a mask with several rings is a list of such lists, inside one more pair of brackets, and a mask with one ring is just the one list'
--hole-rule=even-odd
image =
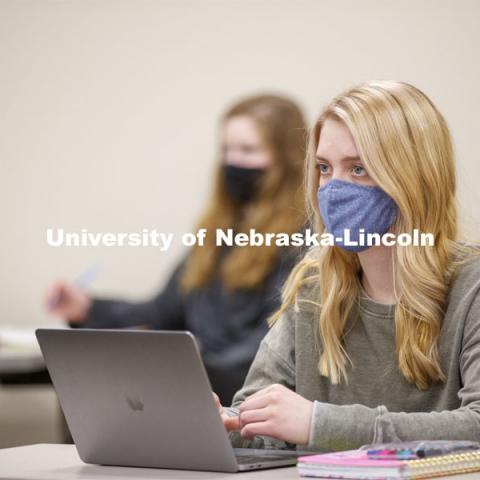
{"label": "blonde woman in blue mask and gray sweatshirt at the laptop", "polygon": [[480,441],[480,263],[458,238],[442,115],[411,85],[361,85],[325,108],[307,162],[318,232],[418,229],[435,243],[310,251],[234,397],[239,416],[219,405],[232,442]]}

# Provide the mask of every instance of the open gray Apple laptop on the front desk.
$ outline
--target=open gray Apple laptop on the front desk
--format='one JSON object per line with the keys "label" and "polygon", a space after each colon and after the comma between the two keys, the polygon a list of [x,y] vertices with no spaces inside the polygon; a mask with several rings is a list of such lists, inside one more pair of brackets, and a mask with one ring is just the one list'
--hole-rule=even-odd
{"label": "open gray Apple laptop on the front desk", "polygon": [[190,332],[36,336],[85,463],[239,472],[295,465],[313,453],[232,448]]}

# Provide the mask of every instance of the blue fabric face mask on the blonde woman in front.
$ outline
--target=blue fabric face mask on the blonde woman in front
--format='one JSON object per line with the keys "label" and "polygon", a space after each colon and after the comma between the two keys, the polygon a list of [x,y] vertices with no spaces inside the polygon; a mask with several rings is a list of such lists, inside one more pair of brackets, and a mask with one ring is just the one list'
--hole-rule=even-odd
{"label": "blue fabric face mask on the blonde woman in front", "polygon": [[[330,180],[318,189],[318,206],[328,233],[335,237],[335,245],[351,252],[362,252],[368,245],[344,245],[345,230],[350,242],[358,243],[360,229],[368,234],[383,235],[397,217],[397,205],[381,188],[343,180]],[[338,240],[341,238],[342,240]]]}

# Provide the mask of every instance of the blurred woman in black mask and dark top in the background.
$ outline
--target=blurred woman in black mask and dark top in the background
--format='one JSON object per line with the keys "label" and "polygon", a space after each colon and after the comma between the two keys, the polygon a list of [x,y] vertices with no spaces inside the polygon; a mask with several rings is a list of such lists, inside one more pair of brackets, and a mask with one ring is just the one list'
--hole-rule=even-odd
{"label": "blurred woman in black mask and dark top in the background", "polygon": [[58,282],[47,293],[49,310],[77,327],[190,330],[200,340],[212,387],[230,402],[301,252],[217,247],[215,231],[302,229],[305,131],[300,108],[286,97],[257,95],[233,105],[221,121],[213,194],[197,225],[207,229],[205,246],[191,249],[166,286],[145,302],[90,297]]}

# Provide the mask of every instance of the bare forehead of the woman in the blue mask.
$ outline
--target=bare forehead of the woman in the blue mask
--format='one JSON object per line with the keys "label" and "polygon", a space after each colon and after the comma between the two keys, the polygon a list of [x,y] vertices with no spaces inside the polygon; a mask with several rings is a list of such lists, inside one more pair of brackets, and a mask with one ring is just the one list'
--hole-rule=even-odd
{"label": "bare forehead of the woman in the blue mask", "polygon": [[355,141],[344,122],[334,118],[325,120],[320,131],[317,156],[327,160],[358,156]]}

